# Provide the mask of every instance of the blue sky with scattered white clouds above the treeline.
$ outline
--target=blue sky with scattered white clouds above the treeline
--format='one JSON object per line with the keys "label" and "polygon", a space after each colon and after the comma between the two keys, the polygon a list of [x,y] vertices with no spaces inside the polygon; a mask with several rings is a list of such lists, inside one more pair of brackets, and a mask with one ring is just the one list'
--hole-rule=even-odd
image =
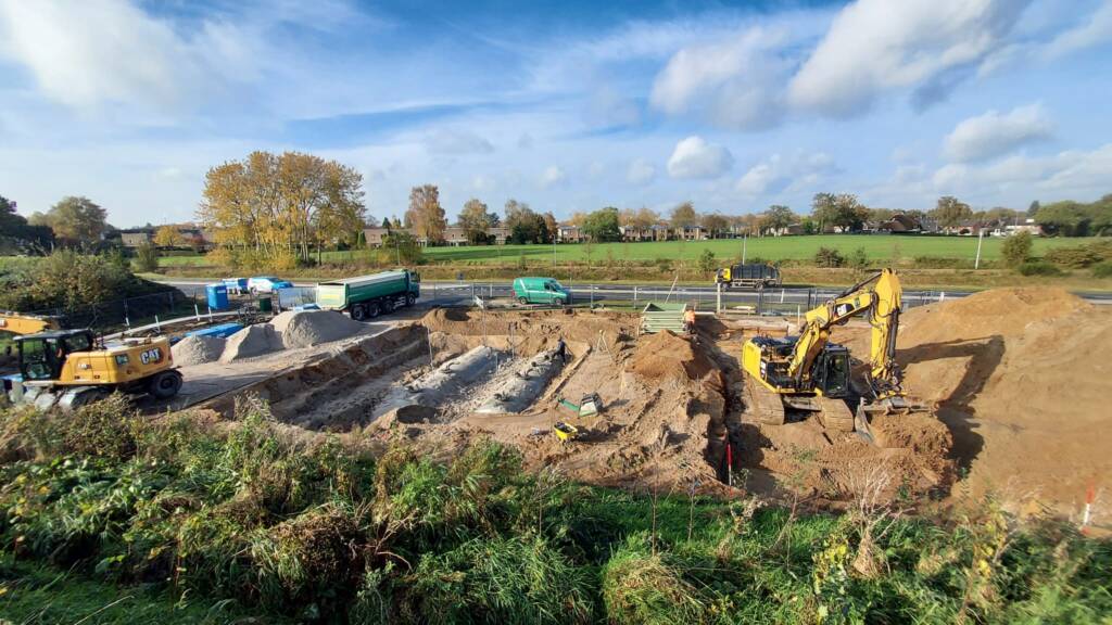
{"label": "blue sky with scattered white clouds above the treeline", "polygon": [[191,219],[208,168],[311,151],[376,217],[431,182],[566,217],[1112,192],[1112,0],[0,0],[0,195]]}

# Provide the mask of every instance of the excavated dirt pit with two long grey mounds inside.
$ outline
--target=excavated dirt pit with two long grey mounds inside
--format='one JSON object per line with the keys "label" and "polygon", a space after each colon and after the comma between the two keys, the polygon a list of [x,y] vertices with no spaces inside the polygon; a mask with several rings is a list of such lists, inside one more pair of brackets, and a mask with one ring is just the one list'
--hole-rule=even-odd
{"label": "excavated dirt pit with two long grey mounds inside", "polygon": [[[771,496],[803,488],[837,499],[876,465],[917,493],[952,477],[950,439],[934,419],[881,419],[876,446],[814,420],[746,423],[737,366],[746,331],[708,320],[694,339],[638,337],[638,324],[616,312],[437,309],[209,406],[230,414],[237,396],[254,394],[291,425],[383,443],[407,437],[433,457],[494,439],[519,448],[528,466],[610,486],[736,494],[725,484],[733,476],[733,486]],[[592,395],[602,411],[580,416],[576,406]],[[558,439],[559,421],[578,438]]]}

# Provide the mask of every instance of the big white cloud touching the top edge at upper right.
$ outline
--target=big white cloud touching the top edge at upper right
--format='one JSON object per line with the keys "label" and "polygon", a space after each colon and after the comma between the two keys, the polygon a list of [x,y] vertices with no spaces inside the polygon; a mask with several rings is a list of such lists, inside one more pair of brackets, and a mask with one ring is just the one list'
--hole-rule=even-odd
{"label": "big white cloud touching the top edge at upper right", "polygon": [[1027,0],[858,0],[831,26],[788,88],[795,107],[847,117],[883,92],[931,103],[1001,48]]}

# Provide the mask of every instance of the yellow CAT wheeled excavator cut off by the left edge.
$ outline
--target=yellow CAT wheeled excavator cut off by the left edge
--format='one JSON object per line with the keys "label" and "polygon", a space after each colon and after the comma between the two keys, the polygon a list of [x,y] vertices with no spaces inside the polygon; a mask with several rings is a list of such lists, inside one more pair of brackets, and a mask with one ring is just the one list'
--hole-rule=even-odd
{"label": "yellow CAT wheeled excavator cut off by the left edge", "polygon": [[17,404],[72,409],[113,390],[168,399],[181,389],[166,337],[106,345],[89,329],[63,330],[52,317],[9,311],[0,311],[0,330],[17,335],[19,376],[6,378]]}

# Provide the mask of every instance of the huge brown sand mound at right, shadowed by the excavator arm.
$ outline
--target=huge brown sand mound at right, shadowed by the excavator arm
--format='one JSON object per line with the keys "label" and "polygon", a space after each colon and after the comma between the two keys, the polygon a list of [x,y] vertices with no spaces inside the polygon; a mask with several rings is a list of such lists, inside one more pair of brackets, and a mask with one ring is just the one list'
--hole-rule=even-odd
{"label": "huge brown sand mound at right, shadowed by the excavator arm", "polygon": [[934,403],[953,434],[974,495],[992,488],[1075,512],[1090,485],[1112,487],[1109,354],[1112,310],[1029,288],[907,311],[896,359],[907,391]]}

